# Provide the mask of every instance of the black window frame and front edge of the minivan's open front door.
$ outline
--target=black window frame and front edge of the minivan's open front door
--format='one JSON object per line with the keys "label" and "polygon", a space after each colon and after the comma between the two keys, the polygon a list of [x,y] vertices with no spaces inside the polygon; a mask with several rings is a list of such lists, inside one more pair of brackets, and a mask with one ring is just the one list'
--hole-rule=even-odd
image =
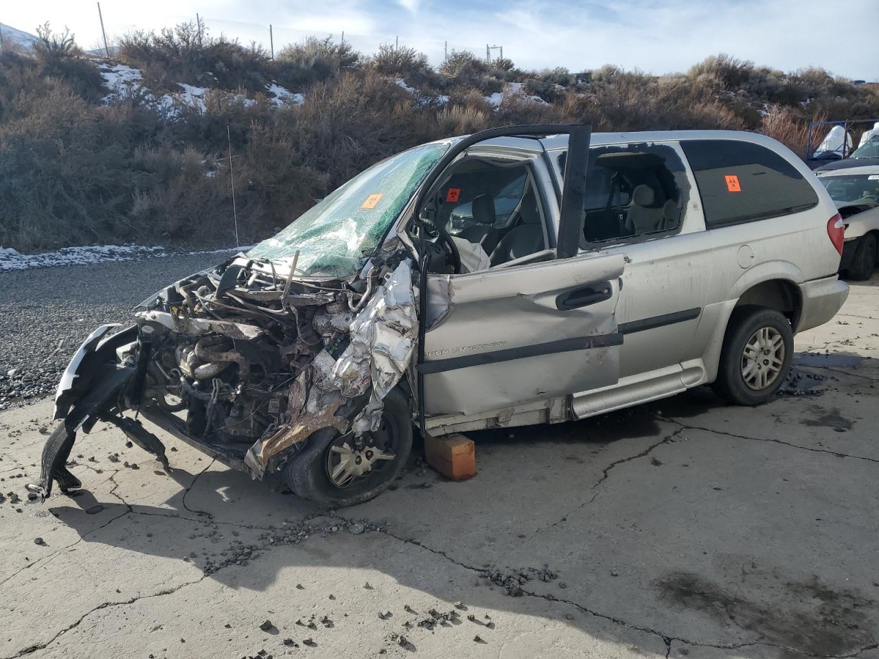
{"label": "black window frame and front edge of the minivan's open front door", "polygon": [[[421,185],[418,202],[414,206],[415,219],[418,220],[418,209],[425,204],[428,194],[432,191],[437,179],[461,153],[482,141],[497,137],[545,137],[547,135],[569,135],[568,157],[565,161],[562,185],[562,202],[558,240],[556,241],[556,258],[576,256],[580,246],[580,232],[583,224],[583,201],[586,187],[586,170],[589,165],[589,142],[592,139],[592,126],[589,124],[534,124],[529,126],[504,126],[489,128],[461,141],[455,142],[445,156],[433,167],[430,175]],[[423,234],[423,229],[421,231]],[[418,278],[418,364],[425,360],[425,321],[427,317],[427,264],[430,259],[424,258],[422,246],[421,263]],[[418,368],[418,427],[425,433],[425,376]]]}

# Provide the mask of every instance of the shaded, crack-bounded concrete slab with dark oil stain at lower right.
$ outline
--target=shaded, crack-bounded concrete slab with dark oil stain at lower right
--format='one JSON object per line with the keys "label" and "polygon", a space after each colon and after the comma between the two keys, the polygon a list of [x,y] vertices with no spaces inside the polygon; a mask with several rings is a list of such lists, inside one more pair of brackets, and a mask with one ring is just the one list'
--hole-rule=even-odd
{"label": "shaded, crack-bounded concrete slab with dark oil stain at lower right", "polygon": [[836,655],[876,641],[874,464],[686,430],[650,456],[661,464],[616,467],[591,504],[508,554],[566,557],[553,565],[567,589],[534,590],[690,643]]}

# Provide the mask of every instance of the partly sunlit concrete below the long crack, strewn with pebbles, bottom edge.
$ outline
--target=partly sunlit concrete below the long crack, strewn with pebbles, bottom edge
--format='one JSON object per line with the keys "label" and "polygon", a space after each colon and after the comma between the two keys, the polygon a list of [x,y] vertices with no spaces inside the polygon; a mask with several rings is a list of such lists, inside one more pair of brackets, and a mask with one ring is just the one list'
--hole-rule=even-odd
{"label": "partly sunlit concrete below the long crack, strewn with pebbles, bottom edge", "polygon": [[[385,650],[389,656],[417,651],[446,657],[449,648],[468,656],[510,658],[540,655],[548,648],[561,657],[665,656],[665,643],[656,636],[627,630],[624,638],[614,633],[609,641],[604,621],[575,623],[564,617],[570,607],[543,599],[512,602],[476,586],[470,570],[381,533],[338,533],[277,547],[251,567],[228,568],[228,573],[225,583],[204,579],[166,595],[96,609],[41,655],[73,656],[100,638],[102,654],[124,656],[137,638],[142,655],[240,656],[265,649],[277,656],[286,649],[284,639],[300,644],[301,652],[307,649],[302,641],[310,638],[318,656],[376,656]],[[366,581],[369,590],[363,588]],[[466,608],[455,609],[455,601]],[[423,621],[432,619],[431,610],[458,611],[458,616],[427,626]],[[388,611],[386,619],[377,615]],[[274,629],[261,631],[263,619]],[[309,620],[315,629],[305,626]],[[403,634],[407,647],[392,634]],[[482,643],[473,641],[477,634]]]}

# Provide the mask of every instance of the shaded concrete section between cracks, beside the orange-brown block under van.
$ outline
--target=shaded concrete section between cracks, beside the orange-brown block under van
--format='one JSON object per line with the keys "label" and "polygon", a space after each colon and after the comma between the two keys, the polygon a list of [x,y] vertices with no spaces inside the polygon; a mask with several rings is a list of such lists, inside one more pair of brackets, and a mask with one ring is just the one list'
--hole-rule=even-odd
{"label": "shaded concrete section between cracks, beside the orange-brown block under van", "polygon": [[[358,514],[393,521],[396,532],[431,547],[503,562],[511,546],[578,505],[615,460],[654,444],[677,426],[624,410],[578,423],[473,433],[478,476],[450,482],[432,470],[409,473],[392,492],[358,506]],[[535,432],[536,431],[536,432]],[[559,487],[560,483],[564,487]],[[430,485],[424,488],[425,484]],[[590,496],[590,495],[587,495]],[[416,509],[418,514],[411,514]],[[449,533],[438,518],[460,516]],[[485,523],[473,523],[485,520]]]}

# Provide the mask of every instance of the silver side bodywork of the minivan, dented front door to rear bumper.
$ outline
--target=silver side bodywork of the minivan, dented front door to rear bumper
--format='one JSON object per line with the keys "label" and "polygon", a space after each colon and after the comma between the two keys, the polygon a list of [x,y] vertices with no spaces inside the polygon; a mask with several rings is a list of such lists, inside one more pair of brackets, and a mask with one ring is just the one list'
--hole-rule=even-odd
{"label": "silver side bodywork of the minivan, dented front door to rear bumper", "polygon": [[[817,206],[796,214],[706,230],[693,172],[679,141],[752,141],[794,164],[813,185]],[[546,156],[534,177],[548,201],[548,231],[557,230],[557,156],[566,135],[537,140],[503,138],[483,151]],[[665,143],[686,165],[691,193],[679,231],[655,239],[602,244],[578,257],[492,269],[468,275],[432,276],[432,317],[425,334],[425,361],[442,351],[474,353],[506,346],[542,344],[624,329],[622,344],[577,353],[449,370],[425,375],[426,425],[434,433],[523,424],[556,423],[593,416],[674,395],[716,378],[723,336],[737,301],[763,282],[795,286],[801,312],[795,331],[832,318],[848,287],[835,274],[839,253],[827,235],[836,206],[814,174],[792,152],[765,136],[728,131],[593,134],[591,148],[626,143]],[[618,260],[614,260],[618,259]],[[621,272],[612,264],[620,264]],[[616,273],[616,274],[614,274]],[[565,315],[548,304],[575,282],[605,276],[614,281],[612,300]],[[441,279],[441,281],[440,281]],[[439,300],[436,294],[439,293]],[[638,322],[668,316],[673,322],[638,329]],[[625,331],[631,326],[632,331]],[[467,345],[465,345],[467,344]],[[468,348],[469,346],[469,348]]]}

